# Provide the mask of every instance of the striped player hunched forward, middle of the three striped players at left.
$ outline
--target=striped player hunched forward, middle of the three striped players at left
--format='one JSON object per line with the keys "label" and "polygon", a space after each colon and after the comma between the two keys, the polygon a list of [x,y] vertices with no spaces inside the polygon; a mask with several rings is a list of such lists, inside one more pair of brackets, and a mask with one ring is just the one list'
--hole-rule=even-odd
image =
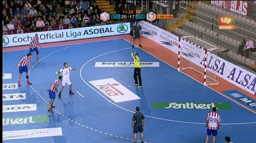
{"label": "striped player hunched forward, middle of the three striped players at left", "polygon": [[30,82],[29,82],[29,79],[28,79],[28,67],[27,67],[27,65],[29,65],[29,66],[30,66],[30,69],[32,70],[32,66],[31,66],[31,64],[30,64],[31,57],[32,57],[32,54],[31,54],[31,53],[28,53],[27,56],[24,56],[24,57],[19,61],[19,64],[18,64],[18,67],[17,67],[17,69],[19,70],[19,79],[18,79],[18,85],[19,85],[19,86],[21,86],[21,84],[20,84],[20,79],[21,79],[21,76],[22,76],[23,71],[26,73],[27,84],[28,84],[28,85],[32,85],[32,83],[30,83]]}

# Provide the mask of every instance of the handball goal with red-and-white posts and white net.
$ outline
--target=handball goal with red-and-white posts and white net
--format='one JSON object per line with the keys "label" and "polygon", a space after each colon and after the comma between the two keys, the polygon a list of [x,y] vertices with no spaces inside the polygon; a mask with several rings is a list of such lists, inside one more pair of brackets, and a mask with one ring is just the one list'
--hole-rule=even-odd
{"label": "handball goal with red-and-white posts and white net", "polygon": [[219,84],[212,63],[217,58],[217,50],[217,47],[193,36],[180,37],[178,71],[190,69],[199,73],[199,81],[203,81],[204,85]]}

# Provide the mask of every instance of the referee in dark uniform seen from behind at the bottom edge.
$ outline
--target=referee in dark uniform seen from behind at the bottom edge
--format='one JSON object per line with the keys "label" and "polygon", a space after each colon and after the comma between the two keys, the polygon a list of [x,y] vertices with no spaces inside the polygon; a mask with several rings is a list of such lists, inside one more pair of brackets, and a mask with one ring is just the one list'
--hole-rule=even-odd
{"label": "referee in dark uniform seen from behind at the bottom edge", "polygon": [[144,143],[143,142],[143,140],[144,140],[143,127],[145,127],[145,117],[140,112],[140,107],[136,107],[136,113],[134,113],[133,117],[132,117],[134,143],[136,143],[138,131],[140,131],[140,133],[141,133],[141,143]]}

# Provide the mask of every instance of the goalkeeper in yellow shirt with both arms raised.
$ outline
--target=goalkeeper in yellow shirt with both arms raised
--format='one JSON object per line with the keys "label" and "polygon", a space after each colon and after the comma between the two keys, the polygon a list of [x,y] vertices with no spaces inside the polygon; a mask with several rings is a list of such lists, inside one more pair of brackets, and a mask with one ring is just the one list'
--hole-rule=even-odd
{"label": "goalkeeper in yellow shirt with both arms raised", "polygon": [[[138,53],[136,53],[136,52],[131,53],[131,55],[132,55],[132,58],[134,59],[134,74],[133,74],[133,77],[134,77],[135,83],[133,85],[139,85],[138,88],[142,88],[140,58],[138,57]],[[139,78],[139,83],[140,84],[138,84],[137,76]]]}

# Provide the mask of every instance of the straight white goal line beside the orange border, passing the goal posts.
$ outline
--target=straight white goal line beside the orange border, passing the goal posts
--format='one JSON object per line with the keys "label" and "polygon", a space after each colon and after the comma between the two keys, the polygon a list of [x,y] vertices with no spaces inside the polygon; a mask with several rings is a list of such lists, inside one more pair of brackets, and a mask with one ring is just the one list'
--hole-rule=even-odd
{"label": "straight white goal line beside the orange border, passing the goal posts", "polygon": [[[124,39],[124,38],[123,38]],[[124,39],[125,41],[127,41],[127,42],[129,42],[129,43],[131,43],[130,41],[128,41],[128,40],[126,40],[126,39]],[[131,43],[132,44],[132,43]],[[143,50],[143,51],[145,51],[144,49],[142,49],[142,48],[139,48],[139,49],[141,49],[141,50]],[[148,53],[147,51],[145,51],[146,53]],[[148,53],[148,54],[150,54],[150,53]],[[154,55],[152,55],[152,54],[150,54],[151,56],[154,56]],[[156,56],[154,56],[156,59],[159,59],[159,58],[157,58]],[[159,59],[160,61],[162,61],[162,62],[164,62],[165,64],[167,64],[167,65],[169,65],[169,66],[172,66],[172,65],[170,65],[170,64],[168,64],[168,63],[166,63],[165,61],[163,61],[163,60],[161,60],[161,59]],[[173,67],[173,66],[172,66]],[[174,68],[174,67],[173,67]],[[176,69],[176,68],[174,68],[174,69]],[[181,73],[183,73],[183,72],[181,72]],[[183,73],[183,74],[185,74],[185,75],[187,75],[186,73]],[[193,78],[193,77],[191,77],[191,76],[189,76],[189,75],[187,75],[189,78],[192,78],[192,79],[194,79],[194,80],[196,80],[195,78]],[[218,75],[217,75],[218,76]],[[219,77],[219,76],[218,76]],[[219,78],[221,78],[221,77],[219,77]],[[197,81],[197,80],[196,80]],[[202,84],[202,85],[204,85],[203,83],[201,83],[201,82],[199,82],[199,81],[197,81],[198,83],[200,83],[200,84]],[[207,88],[210,88],[209,86],[206,86]],[[222,95],[222,96],[224,96],[225,98],[228,98],[228,97],[226,97],[225,95],[223,95],[222,93],[220,93],[220,92],[218,92],[218,91],[216,91],[216,90],[214,90],[214,89],[212,89],[212,88],[210,88],[211,90],[213,90],[213,91],[215,91],[216,93],[219,93],[220,95]],[[237,103],[238,105],[240,105],[240,106],[242,106],[241,104],[239,104],[236,100],[234,100],[234,99],[232,99],[232,98],[228,98],[229,100],[232,100],[233,102],[235,102],[235,103]],[[249,110],[249,111],[251,111],[252,113],[255,113],[256,114],[256,112],[253,112],[253,110],[251,110],[251,109],[249,109],[249,108],[246,108],[246,107],[244,107],[244,106],[242,106],[243,108],[245,108],[245,109],[247,109],[247,110]],[[256,122],[252,122],[252,123],[256,123]]]}

